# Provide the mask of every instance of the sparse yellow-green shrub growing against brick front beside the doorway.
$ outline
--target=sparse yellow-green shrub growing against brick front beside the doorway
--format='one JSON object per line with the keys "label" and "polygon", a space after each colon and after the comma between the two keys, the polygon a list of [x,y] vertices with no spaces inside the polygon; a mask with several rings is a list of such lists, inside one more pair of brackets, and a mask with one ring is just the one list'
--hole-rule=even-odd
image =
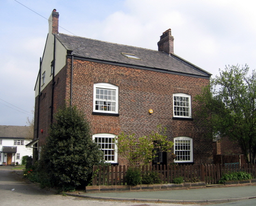
{"label": "sparse yellow-green shrub growing against brick front beside the doorway", "polygon": [[166,128],[162,129],[161,125],[149,136],[136,137],[135,134],[127,135],[122,132],[115,140],[117,153],[125,157],[133,167],[139,163],[148,165],[155,158],[157,148],[162,152],[170,152],[173,147],[173,142],[168,141]]}

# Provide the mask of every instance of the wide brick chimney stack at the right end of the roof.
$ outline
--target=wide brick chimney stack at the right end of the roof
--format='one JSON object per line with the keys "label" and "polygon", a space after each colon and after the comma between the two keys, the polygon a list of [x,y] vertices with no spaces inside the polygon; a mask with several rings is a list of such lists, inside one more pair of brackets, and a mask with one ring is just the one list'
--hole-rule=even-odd
{"label": "wide brick chimney stack at the right end of the roof", "polygon": [[158,51],[173,54],[173,40],[171,29],[163,32],[162,36],[160,36],[160,41],[157,43]]}

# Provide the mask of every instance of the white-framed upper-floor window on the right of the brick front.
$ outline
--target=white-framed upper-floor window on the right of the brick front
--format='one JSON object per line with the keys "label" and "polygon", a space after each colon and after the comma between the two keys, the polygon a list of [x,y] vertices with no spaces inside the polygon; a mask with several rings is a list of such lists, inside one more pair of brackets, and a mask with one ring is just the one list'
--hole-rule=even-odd
{"label": "white-framed upper-floor window on the right of the brick front", "polygon": [[173,94],[173,116],[191,117],[191,98],[187,94]]}

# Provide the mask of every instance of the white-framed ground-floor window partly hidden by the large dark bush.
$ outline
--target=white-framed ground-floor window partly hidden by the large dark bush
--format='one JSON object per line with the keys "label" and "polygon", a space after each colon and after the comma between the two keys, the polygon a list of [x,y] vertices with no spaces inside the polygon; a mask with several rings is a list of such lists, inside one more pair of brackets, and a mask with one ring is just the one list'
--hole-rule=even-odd
{"label": "white-framed ground-floor window partly hidden by the large dark bush", "polygon": [[115,136],[112,134],[95,134],[93,135],[94,142],[100,145],[104,153],[104,160],[110,163],[117,163]]}

